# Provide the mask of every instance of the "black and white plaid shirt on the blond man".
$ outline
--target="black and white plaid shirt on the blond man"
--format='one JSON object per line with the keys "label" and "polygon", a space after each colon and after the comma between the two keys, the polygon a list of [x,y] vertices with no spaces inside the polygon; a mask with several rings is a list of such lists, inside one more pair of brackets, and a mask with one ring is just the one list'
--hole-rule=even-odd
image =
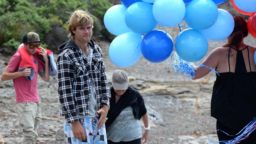
{"label": "black and white plaid shirt on the blond man", "polygon": [[57,58],[60,116],[65,116],[69,123],[78,120],[77,113],[82,115],[89,113],[91,77],[95,84],[97,110],[102,108],[102,104],[109,107],[111,94],[102,51],[92,40],[89,44],[93,48],[91,68],[82,50],[71,40],[63,44],[65,47]]}

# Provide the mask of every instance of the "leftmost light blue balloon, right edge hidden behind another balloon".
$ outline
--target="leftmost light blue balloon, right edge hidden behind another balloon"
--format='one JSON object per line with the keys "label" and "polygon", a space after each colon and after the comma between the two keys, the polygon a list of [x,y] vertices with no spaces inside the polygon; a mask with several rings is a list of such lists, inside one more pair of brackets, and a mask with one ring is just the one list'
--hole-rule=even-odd
{"label": "leftmost light blue balloon, right edge hidden behind another balloon", "polygon": [[120,35],[122,33],[130,32],[131,30],[126,26],[124,15],[126,7],[122,4],[112,6],[106,11],[104,15],[104,24],[107,30],[113,35]]}

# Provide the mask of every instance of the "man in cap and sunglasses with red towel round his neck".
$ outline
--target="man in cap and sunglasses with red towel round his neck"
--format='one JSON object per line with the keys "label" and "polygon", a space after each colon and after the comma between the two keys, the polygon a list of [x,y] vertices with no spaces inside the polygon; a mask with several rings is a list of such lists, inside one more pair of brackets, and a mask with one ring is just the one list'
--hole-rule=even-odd
{"label": "man in cap and sunglasses with red towel round his neck", "polygon": [[[16,111],[24,134],[22,144],[35,144],[38,137],[37,129],[42,118],[37,92],[37,74],[46,82],[50,80],[48,55],[43,48],[38,55],[35,55],[40,46],[39,35],[35,32],[24,35],[23,43],[24,46],[11,57],[1,80],[13,79]],[[39,61],[39,56],[43,57],[44,65]]]}

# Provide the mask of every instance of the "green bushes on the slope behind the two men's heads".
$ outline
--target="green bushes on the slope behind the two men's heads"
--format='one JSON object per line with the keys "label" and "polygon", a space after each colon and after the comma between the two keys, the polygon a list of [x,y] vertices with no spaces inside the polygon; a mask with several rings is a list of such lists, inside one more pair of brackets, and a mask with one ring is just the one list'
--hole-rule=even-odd
{"label": "green bushes on the slope behind the two men's heads", "polygon": [[29,31],[39,33],[48,49],[56,51],[67,41],[67,20],[76,9],[90,11],[96,17],[94,38],[112,37],[103,17],[109,0],[0,0],[0,48],[15,48]]}

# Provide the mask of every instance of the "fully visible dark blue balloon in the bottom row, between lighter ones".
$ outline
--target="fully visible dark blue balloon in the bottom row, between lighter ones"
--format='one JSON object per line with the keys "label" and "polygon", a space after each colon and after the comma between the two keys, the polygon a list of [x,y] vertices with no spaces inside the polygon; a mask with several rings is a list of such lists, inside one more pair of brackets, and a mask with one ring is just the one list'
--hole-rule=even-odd
{"label": "fully visible dark blue balloon in the bottom row, between lighter ones", "polygon": [[162,30],[150,31],[143,37],[141,53],[148,61],[160,63],[168,59],[173,52],[173,39]]}

